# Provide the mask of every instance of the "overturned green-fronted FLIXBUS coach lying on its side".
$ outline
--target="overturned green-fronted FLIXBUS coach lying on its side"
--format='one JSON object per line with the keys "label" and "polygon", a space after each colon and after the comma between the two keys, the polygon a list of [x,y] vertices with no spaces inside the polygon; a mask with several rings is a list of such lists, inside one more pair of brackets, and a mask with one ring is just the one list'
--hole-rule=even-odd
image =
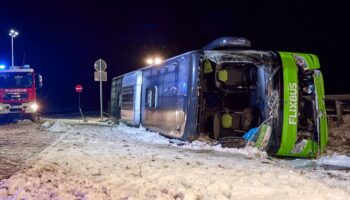
{"label": "overturned green-fronted FLIXBUS coach lying on its side", "polygon": [[250,46],[244,38],[219,38],[115,77],[110,112],[172,138],[245,138],[270,155],[318,155],[328,128],[317,56]]}

